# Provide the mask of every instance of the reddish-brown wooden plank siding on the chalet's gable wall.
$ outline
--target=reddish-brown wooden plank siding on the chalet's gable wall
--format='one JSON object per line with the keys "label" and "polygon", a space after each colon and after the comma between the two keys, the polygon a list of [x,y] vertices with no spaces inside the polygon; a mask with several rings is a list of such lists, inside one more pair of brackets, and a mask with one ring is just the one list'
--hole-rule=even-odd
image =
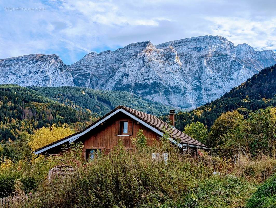
{"label": "reddish-brown wooden plank siding on the chalet's gable wall", "polygon": [[[129,136],[118,136],[118,123],[120,121],[127,121],[128,125],[132,124],[132,129],[129,126],[129,131],[132,132],[132,135]],[[83,154],[85,154],[85,149],[105,149],[105,152],[108,153],[110,149],[113,149],[118,141],[121,140],[124,143],[126,149],[131,149],[131,138],[135,138],[139,129],[143,129],[144,135],[148,140],[148,145],[151,145],[154,141],[159,140],[159,135],[157,135],[152,130],[147,127],[138,124],[137,121],[132,120],[130,117],[123,113],[118,113],[112,118],[108,119],[99,125],[97,128],[91,130],[86,135],[82,136],[79,141],[83,142]]]}

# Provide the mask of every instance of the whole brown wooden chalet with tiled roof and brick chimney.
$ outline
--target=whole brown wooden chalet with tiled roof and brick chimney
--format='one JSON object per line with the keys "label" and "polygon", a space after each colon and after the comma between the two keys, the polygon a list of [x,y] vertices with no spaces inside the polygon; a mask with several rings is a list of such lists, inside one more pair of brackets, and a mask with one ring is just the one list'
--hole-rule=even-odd
{"label": "whole brown wooden chalet with tiled roof and brick chimney", "polygon": [[170,132],[170,141],[181,149],[209,149],[206,145],[174,128],[174,115],[174,110],[170,110],[169,117],[172,125],[169,125],[153,115],[118,106],[82,131],[36,149],[34,153],[57,154],[64,144],[82,142],[83,155],[86,159],[93,158],[96,150],[104,149],[108,153],[118,144],[119,140],[123,141],[126,149],[131,149],[131,138],[136,137],[139,129],[143,129],[147,138],[153,138],[148,139],[148,145],[151,145],[154,139],[158,141],[166,129]]}

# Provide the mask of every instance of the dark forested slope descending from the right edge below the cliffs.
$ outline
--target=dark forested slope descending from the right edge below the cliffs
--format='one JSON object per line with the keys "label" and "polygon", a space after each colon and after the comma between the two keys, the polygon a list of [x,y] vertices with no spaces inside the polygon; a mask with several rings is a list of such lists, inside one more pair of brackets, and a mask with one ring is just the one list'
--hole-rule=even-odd
{"label": "dark forested slope descending from the right edge below the cliffs", "polygon": [[[182,131],[187,124],[199,121],[210,129],[224,112],[238,108],[258,110],[269,106],[276,106],[276,65],[261,70],[213,102],[189,112],[178,112],[176,128]],[[166,115],[163,116],[163,120],[166,119]]]}

